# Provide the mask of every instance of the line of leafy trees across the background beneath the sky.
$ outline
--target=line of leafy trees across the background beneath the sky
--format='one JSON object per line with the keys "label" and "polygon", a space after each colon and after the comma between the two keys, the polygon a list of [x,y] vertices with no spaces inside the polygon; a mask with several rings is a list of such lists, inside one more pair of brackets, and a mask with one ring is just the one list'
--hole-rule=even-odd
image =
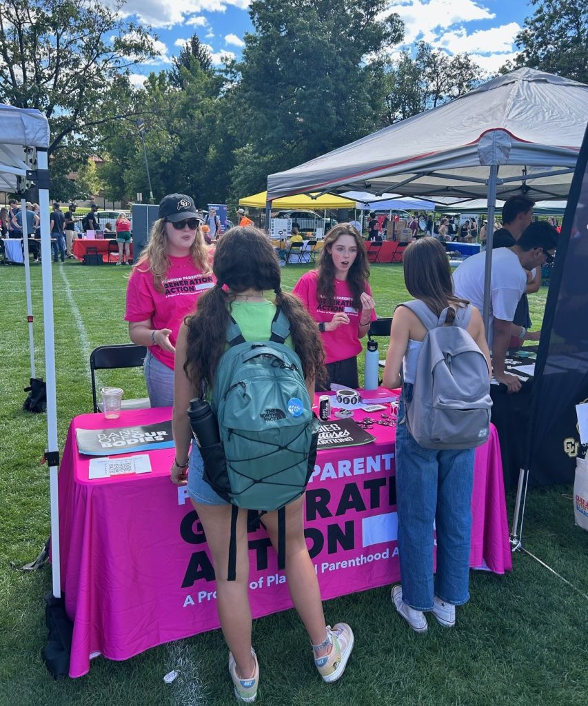
{"label": "line of leafy trees across the background beneath the sky", "polygon": [[[532,4],[521,52],[503,70],[586,81],[585,13],[567,0]],[[424,42],[393,52],[404,25],[385,0],[253,0],[239,61],[215,68],[193,35],[168,71],[135,88],[131,73],[156,56],[156,37],[121,18],[123,6],[0,4],[0,102],[47,115],[60,201],[148,192],[138,121],[155,198],[186,191],[200,204],[232,201],[263,191],[272,172],[452,100],[483,77],[467,54]]]}

